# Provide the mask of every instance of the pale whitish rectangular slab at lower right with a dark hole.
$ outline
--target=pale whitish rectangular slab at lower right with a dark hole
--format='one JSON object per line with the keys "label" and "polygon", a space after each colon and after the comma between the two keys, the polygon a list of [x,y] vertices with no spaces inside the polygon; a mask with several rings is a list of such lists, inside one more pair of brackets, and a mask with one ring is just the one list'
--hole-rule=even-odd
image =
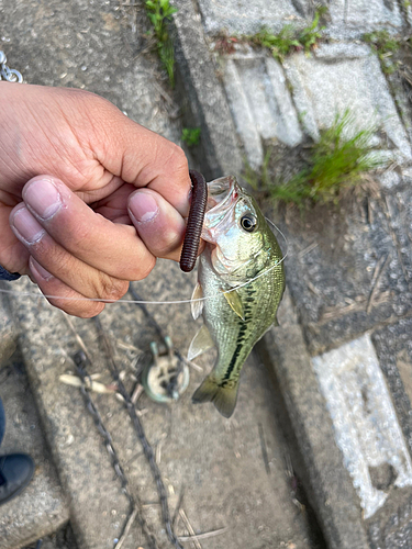
{"label": "pale whitish rectangular slab at lower right with a dark hole", "polygon": [[363,517],[372,517],[394,488],[412,496],[411,456],[370,336],[314,357],[312,365]]}

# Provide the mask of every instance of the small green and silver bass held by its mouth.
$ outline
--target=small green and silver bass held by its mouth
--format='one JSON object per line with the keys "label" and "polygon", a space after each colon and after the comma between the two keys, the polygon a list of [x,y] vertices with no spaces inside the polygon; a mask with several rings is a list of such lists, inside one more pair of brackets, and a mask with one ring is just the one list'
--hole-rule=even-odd
{"label": "small green and silver bass held by its mouth", "polygon": [[211,373],[192,396],[233,414],[243,365],[255,344],[277,323],[285,290],[280,246],[256,200],[234,176],[208,182],[198,283],[191,313],[203,325],[193,337],[188,360],[218,349]]}

